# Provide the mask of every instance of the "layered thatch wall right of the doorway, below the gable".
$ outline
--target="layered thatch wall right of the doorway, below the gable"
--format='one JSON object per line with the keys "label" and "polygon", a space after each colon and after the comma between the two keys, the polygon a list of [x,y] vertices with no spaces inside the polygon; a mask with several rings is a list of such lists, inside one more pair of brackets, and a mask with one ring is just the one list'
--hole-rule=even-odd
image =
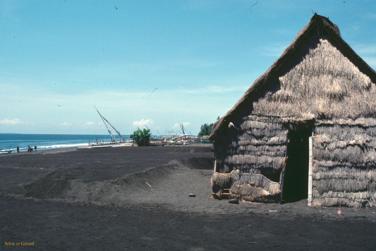
{"label": "layered thatch wall right of the doorway, below the gable", "polygon": [[376,126],[320,124],[313,141],[313,205],[376,206]]}

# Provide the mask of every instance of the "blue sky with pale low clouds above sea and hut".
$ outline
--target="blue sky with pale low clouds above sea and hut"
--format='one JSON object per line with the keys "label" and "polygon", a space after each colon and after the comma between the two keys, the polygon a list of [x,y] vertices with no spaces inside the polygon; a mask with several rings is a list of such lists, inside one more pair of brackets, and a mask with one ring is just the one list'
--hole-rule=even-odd
{"label": "blue sky with pale low clouds above sea and hut", "polygon": [[0,0],[0,132],[106,134],[95,102],[122,134],[181,123],[196,134],[273,64],[311,9],[376,69],[374,1],[255,3]]}

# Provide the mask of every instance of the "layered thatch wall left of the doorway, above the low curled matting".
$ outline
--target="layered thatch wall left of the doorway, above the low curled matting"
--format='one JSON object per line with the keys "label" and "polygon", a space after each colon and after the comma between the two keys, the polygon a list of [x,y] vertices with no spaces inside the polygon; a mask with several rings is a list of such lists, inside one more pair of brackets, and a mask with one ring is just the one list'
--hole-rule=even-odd
{"label": "layered thatch wall left of the doorway, above the low curled matting", "polygon": [[271,174],[280,171],[288,130],[281,121],[271,123],[270,117],[260,117],[260,121],[251,120],[253,118],[241,117],[240,126],[238,122],[233,123],[235,126],[230,131],[233,134],[216,140],[214,147],[218,172],[240,169],[253,174]]}

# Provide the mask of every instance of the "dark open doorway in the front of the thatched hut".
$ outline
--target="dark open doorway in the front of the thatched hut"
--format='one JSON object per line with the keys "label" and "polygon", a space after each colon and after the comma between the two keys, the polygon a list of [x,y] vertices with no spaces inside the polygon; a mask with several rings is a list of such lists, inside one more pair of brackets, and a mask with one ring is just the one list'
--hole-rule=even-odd
{"label": "dark open doorway in the front of the thatched hut", "polygon": [[312,127],[299,128],[288,133],[287,163],[285,168],[282,202],[308,198],[308,139]]}

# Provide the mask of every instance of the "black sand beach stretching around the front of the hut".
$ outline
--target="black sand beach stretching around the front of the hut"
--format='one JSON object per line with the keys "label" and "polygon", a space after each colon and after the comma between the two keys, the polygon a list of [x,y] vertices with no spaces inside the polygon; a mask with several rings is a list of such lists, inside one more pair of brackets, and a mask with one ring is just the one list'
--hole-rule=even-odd
{"label": "black sand beach stretching around the front of the hut", "polygon": [[212,162],[210,144],[2,155],[2,249],[376,250],[376,209],[212,200]]}

